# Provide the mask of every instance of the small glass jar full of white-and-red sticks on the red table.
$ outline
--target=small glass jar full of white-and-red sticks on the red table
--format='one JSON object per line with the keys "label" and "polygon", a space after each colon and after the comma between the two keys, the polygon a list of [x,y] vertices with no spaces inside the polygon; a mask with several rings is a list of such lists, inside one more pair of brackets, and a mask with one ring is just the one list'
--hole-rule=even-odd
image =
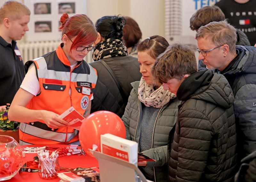
{"label": "small glass jar full of white-and-red sticks on the red table", "polygon": [[60,171],[59,159],[55,161],[45,162],[39,159],[38,161],[38,174],[42,179],[57,178],[57,172]]}

